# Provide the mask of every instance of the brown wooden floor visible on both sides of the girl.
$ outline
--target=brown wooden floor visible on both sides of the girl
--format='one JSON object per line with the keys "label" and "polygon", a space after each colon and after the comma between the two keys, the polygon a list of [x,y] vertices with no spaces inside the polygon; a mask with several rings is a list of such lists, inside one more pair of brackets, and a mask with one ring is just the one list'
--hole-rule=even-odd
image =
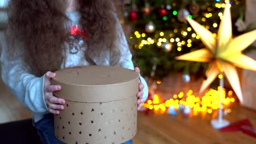
{"label": "brown wooden floor visible on both sides of the girl", "polygon": [[[226,116],[231,122],[248,118],[256,129],[256,112],[234,106]],[[31,114],[9,93],[0,81],[0,123],[30,118]],[[177,144],[177,143],[256,143],[256,139],[241,132],[220,132],[210,125],[212,115],[184,117],[150,112],[138,113],[138,132],[133,138],[135,144]],[[1,143],[1,142],[0,142]]]}

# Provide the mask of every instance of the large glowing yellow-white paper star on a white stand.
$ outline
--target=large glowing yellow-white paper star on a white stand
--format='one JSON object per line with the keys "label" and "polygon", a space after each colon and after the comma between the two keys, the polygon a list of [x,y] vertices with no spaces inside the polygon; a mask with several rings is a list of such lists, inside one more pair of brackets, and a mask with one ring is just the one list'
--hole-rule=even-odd
{"label": "large glowing yellow-white paper star on a white stand", "polygon": [[207,79],[203,81],[200,92],[203,92],[212,81],[216,79],[218,74],[224,71],[225,76],[242,103],[243,97],[236,67],[256,71],[256,61],[242,54],[242,51],[256,39],[256,30],[242,34],[233,39],[230,6],[230,4],[226,4],[217,38],[214,38],[213,34],[199,23],[187,18],[195,32],[200,35],[200,39],[203,44],[205,44],[206,48],[178,56],[176,59],[194,62],[210,62],[206,73]]}

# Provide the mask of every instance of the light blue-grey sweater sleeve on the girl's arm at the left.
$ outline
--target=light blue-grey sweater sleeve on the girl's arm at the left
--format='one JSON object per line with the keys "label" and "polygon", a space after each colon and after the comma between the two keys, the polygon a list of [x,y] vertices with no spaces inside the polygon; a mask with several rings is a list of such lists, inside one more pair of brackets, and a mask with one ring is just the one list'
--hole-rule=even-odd
{"label": "light blue-grey sweater sleeve on the girl's arm at the left", "polygon": [[2,44],[2,80],[10,92],[28,110],[34,113],[47,112],[44,100],[44,76],[36,77],[29,73],[21,57],[9,59],[7,45]]}

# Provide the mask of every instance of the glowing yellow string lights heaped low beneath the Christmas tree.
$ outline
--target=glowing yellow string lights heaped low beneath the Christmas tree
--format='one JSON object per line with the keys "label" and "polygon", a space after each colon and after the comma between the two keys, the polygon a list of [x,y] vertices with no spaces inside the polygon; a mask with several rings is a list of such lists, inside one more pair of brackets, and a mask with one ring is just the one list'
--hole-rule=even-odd
{"label": "glowing yellow string lights heaped low beneath the Christmas tree", "polygon": [[[228,92],[229,94],[232,91]],[[194,112],[207,112],[212,113],[213,110],[219,109],[219,103],[222,101],[223,106],[229,106],[230,103],[234,103],[235,99],[232,98],[232,95],[226,98],[225,89],[223,89],[222,94],[223,97],[220,99],[219,97],[220,89],[214,90],[210,89],[206,94],[201,97],[195,97],[193,95],[193,91],[189,90],[187,95],[185,96],[183,92],[180,92],[178,95],[174,94],[173,98],[167,99],[166,101],[159,98],[157,94],[154,94],[153,100],[148,100],[142,104],[143,107],[147,107],[150,110],[161,110],[161,113],[164,113],[166,109],[170,106],[173,106],[175,109],[179,108],[179,105],[188,106],[194,110]],[[224,108],[222,107],[222,108]],[[227,109],[228,112],[231,112],[231,109]]]}

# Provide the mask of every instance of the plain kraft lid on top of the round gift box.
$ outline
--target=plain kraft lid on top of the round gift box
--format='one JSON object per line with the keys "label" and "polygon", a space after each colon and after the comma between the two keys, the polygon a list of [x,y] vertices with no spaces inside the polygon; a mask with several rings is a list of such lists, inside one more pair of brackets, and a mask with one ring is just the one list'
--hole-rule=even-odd
{"label": "plain kraft lid on top of the round gift box", "polygon": [[56,97],[70,101],[99,103],[126,99],[138,92],[139,76],[133,70],[90,65],[56,71],[52,85],[60,85]]}

